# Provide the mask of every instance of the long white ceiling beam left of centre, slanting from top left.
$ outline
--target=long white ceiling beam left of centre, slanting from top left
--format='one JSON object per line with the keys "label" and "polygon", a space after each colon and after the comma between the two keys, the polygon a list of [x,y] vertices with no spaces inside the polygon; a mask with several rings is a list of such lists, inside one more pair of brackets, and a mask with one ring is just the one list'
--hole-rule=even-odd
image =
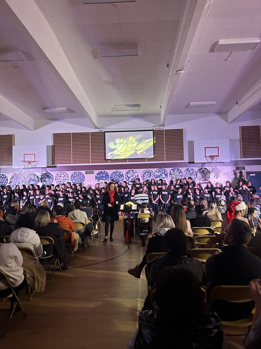
{"label": "long white ceiling beam left of centre, slanting from top left", "polygon": [[5,1],[23,23],[35,42],[40,46],[73,94],[77,97],[92,125],[97,127],[97,113],[87,97],[77,75],[74,73],[53,29],[37,4],[33,0]]}

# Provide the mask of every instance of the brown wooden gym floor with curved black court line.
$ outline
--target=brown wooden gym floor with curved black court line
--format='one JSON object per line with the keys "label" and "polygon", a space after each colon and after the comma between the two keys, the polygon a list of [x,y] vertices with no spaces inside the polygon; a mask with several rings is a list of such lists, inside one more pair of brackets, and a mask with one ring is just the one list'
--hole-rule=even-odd
{"label": "brown wooden gym floor with curved black court line", "polygon": [[[122,225],[122,221],[115,222],[114,241],[106,244],[103,228],[93,245],[77,253],[77,258],[71,255],[69,269],[56,271],[53,280],[47,272],[44,293],[34,294],[30,301],[21,292],[27,318],[21,311],[14,315],[5,339],[0,339],[0,347],[126,348],[147,295],[144,270],[141,279],[129,275],[127,270],[140,262],[146,247],[141,247],[138,238],[133,238],[137,245],[124,246]],[[9,305],[1,302],[0,309]],[[7,315],[9,311],[1,312],[1,333]],[[238,344],[243,339],[228,337]]]}

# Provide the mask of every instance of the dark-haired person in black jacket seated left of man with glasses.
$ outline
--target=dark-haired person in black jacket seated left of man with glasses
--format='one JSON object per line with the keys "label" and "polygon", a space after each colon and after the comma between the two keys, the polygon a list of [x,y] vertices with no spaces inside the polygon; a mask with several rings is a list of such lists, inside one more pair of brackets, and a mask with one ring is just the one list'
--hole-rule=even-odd
{"label": "dark-haired person in black jacket seated left of man with glasses", "polygon": [[204,271],[202,263],[187,253],[186,237],[182,230],[177,228],[169,229],[164,236],[164,243],[167,254],[153,259],[150,268],[151,285],[155,284],[161,269],[166,266],[182,266],[196,275],[197,280],[202,284]]}

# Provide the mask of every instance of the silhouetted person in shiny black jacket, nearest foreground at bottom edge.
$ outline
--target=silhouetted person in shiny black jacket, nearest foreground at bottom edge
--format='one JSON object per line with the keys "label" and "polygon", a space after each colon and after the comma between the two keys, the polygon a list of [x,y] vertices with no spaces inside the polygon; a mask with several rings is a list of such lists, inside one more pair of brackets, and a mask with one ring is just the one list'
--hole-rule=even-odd
{"label": "silhouetted person in shiny black jacket, nearest foreground at bottom edge", "polygon": [[204,293],[192,272],[164,268],[156,287],[153,308],[139,313],[139,327],[127,349],[222,348],[221,320],[205,310]]}

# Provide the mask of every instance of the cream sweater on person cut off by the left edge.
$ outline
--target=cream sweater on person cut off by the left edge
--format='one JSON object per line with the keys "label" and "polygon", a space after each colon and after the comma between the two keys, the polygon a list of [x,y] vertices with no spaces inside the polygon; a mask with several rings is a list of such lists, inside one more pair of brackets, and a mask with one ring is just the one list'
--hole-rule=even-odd
{"label": "cream sweater on person cut off by the left edge", "polygon": [[[22,254],[14,244],[0,244],[0,269],[7,274],[13,287],[20,285],[24,280],[22,264]],[[0,290],[7,288],[7,282],[0,281]]]}

